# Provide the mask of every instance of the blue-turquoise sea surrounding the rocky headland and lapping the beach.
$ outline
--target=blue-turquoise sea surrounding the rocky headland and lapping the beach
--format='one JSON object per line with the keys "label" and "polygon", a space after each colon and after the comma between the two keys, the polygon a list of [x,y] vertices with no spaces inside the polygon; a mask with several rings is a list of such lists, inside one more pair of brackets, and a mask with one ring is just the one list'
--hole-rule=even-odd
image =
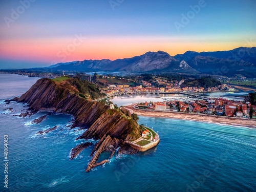
{"label": "blue-turquoise sea surrounding the rocky headland and lapping the beach", "polygon": [[[52,114],[39,124],[13,116],[26,104],[20,96],[38,78],[0,74],[0,166],[4,181],[4,135],[8,135],[8,189],[0,191],[256,191],[256,130],[237,126],[140,116],[160,143],[137,155],[114,156],[86,173],[93,146],[70,160],[82,131],[69,130],[72,116]],[[13,108],[15,111],[5,110]],[[36,135],[58,125],[45,135]],[[94,143],[96,141],[93,141]]]}

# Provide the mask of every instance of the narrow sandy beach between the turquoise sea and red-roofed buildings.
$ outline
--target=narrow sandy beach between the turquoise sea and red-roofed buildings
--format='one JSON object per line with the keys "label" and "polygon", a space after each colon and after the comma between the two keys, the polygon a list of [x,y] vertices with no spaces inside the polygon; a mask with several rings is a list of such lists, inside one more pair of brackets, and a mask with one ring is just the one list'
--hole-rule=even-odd
{"label": "narrow sandy beach between the turquoise sea and red-roofed buildings", "polygon": [[124,106],[127,110],[130,110],[137,115],[147,116],[147,117],[160,117],[160,118],[173,118],[191,121],[200,121],[205,123],[217,123],[223,125],[231,126],[243,126],[247,128],[256,128],[256,121],[249,119],[240,118],[230,118],[230,117],[220,117],[220,116],[204,116],[198,114],[184,114],[184,113],[172,113],[172,112],[159,112],[159,111],[142,111],[134,109],[135,104]]}

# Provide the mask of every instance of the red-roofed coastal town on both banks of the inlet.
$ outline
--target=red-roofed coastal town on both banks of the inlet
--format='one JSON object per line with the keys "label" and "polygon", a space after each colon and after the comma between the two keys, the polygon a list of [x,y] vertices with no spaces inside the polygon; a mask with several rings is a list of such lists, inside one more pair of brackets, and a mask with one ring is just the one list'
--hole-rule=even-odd
{"label": "red-roofed coastal town on both banks of the inlet", "polygon": [[[148,111],[166,111],[166,112],[183,112],[191,114],[218,115],[227,117],[251,118],[256,119],[256,106],[250,102],[228,100],[226,98],[210,98],[197,93],[214,93],[214,92],[236,92],[237,90],[227,84],[221,84],[216,87],[182,87],[181,81],[170,83],[164,80],[157,80],[161,87],[152,86],[150,82],[141,81],[136,87],[129,84],[110,84],[103,92],[106,97],[124,95],[124,94],[166,94],[170,97],[163,97],[162,102],[146,101],[137,103],[134,107],[140,110]],[[181,95],[180,97],[175,95]]]}

